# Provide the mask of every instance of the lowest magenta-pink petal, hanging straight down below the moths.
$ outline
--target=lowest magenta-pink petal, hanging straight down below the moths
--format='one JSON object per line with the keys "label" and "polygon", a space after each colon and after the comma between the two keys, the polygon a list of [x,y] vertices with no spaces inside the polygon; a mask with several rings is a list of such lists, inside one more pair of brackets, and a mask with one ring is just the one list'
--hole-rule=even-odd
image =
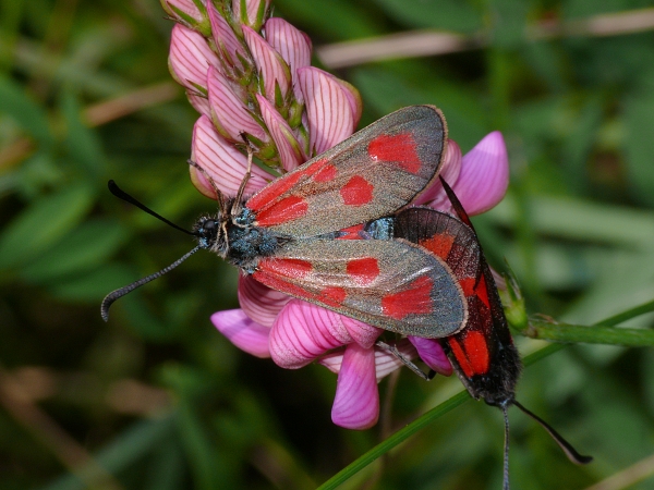
{"label": "lowest magenta-pink petal, hanging straight down below the moths", "polygon": [[375,351],[350,344],[338,373],[331,420],[346,429],[363,430],[373,427],[378,418]]}

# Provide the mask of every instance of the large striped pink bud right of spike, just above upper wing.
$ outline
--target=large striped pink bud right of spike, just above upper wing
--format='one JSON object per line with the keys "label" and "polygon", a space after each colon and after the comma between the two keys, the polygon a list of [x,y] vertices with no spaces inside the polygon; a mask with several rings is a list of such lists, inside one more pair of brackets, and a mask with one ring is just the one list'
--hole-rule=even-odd
{"label": "large striped pink bud right of spike, just above upper wing", "polygon": [[354,132],[352,106],[341,84],[322,70],[298,70],[298,83],[308,115],[310,155],[319,155]]}

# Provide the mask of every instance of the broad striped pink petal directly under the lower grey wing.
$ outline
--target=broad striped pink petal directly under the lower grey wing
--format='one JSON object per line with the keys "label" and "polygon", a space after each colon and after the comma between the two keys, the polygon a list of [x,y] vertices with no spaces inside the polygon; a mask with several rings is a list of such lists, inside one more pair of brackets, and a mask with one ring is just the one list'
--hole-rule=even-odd
{"label": "broad striped pink petal directly under the lower grey wing", "polygon": [[270,331],[270,354],[278,366],[296,369],[331,348],[352,342],[338,316],[319,306],[291,299]]}

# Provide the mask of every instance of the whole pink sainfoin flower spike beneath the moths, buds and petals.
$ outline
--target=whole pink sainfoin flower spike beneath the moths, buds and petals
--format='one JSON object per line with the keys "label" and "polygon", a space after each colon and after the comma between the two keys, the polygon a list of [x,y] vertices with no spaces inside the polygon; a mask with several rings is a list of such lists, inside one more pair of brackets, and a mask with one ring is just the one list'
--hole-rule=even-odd
{"label": "whole pink sainfoin flower spike beneath the moths, buds and petals", "polygon": [[[245,195],[349,137],[361,117],[359,93],[347,82],[310,66],[311,41],[288,22],[268,17],[269,1],[162,0],[173,27],[170,70],[201,113],[191,158],[221,193],[234,196],[247,150],[271,172],[252,168]],[[242,7],[245,9],[242,9]],[[193,184],[215,198],[210,183],[191,167]],[[495,132],[465,156],[449,140],[440,173],[470,215],[494,207],[508,185],[504,138]],[[450,211],[439,183],[415,201]],[[379,414],[377,382],[402,366],[376,346],[383,330],[270,290],[249,275],[239,280],[241,308],[211,316],[216,328],[241,350],[295,369],[317,362],[338,373],[335,424],[365,429]],[[450,375],[436,340],[409,336],[393,343]]]}

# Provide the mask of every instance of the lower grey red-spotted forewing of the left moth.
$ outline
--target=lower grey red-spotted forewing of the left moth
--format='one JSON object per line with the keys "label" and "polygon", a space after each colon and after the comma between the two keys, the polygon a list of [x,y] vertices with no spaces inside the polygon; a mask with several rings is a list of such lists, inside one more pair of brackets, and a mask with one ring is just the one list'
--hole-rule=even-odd
{"label": "lower grey red-spotted forewing of the left moth", "polygon": [[439,258],[403,241],[300,240],[254,279],[375,327],[441,338],[467,322],[463,292]]}

